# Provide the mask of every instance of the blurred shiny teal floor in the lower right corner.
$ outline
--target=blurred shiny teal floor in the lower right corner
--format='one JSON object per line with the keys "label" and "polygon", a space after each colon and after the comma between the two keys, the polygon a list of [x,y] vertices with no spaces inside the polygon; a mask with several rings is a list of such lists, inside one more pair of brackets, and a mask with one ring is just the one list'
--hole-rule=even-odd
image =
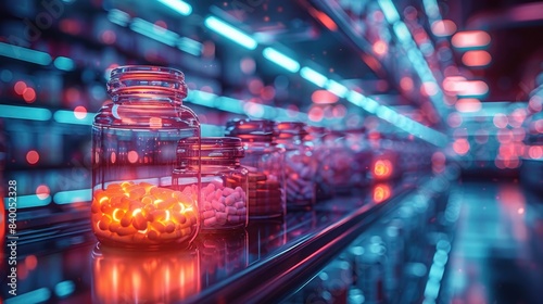
{"label": "blurred shiny teal floor in the lower right corner", "polygon": [[460,187],[451,303],[543,303],[543,199],[514,182]]}

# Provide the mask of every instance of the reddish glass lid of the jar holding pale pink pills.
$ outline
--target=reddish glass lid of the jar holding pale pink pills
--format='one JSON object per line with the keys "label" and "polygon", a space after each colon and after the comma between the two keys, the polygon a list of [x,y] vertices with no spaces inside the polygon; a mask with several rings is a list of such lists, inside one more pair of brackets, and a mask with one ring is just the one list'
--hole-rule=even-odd
{"label": "reddish glass lid of the jar holding pale pink pills", "polygon": [[200,152],[202,159],[240,159],[245,156],[241,139],[237,137],[186,138],[177,144],[177,156],[195,159]]}

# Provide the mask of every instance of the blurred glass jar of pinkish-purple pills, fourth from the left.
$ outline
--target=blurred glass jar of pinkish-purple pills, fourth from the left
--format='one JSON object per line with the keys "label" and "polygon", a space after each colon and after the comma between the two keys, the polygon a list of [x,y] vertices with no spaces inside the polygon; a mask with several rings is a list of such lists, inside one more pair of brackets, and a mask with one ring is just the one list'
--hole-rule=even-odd
{"label": "blurred glass jar of pinkish-purple pills, fourth from the left", "polygon": [[304,123],[282,122],[276,125],[276,142],[285,148],[287,208],[312,208],[316,200],[315,175],[317,163],[313,142],[306,140]]}

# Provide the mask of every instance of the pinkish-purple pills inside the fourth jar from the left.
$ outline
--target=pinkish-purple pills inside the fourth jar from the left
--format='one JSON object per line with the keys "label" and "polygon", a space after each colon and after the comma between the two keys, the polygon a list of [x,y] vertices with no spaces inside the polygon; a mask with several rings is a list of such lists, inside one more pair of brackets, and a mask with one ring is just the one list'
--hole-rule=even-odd
{"label": "pinkish-purple pills inside the fourth jar from the left", "polygon": [[306,206],[314,203],[316,169],[313,160],[300,154],[288,155],[286,173],[288,206]]}

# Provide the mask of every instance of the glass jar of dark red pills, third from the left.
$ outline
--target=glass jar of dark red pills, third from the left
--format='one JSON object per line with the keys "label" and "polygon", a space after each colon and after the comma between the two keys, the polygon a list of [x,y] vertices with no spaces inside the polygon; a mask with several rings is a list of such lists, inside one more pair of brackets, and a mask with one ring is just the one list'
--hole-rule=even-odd
{"label": "glass jar of dark red pills, third from the left", "polygon": [[264,119],[236,119],[226,125],[225,135],[239,137],[245,150],[240,160],[248,170],[250,219],[285,217],[285,149],[274,141],[275,123]]}

